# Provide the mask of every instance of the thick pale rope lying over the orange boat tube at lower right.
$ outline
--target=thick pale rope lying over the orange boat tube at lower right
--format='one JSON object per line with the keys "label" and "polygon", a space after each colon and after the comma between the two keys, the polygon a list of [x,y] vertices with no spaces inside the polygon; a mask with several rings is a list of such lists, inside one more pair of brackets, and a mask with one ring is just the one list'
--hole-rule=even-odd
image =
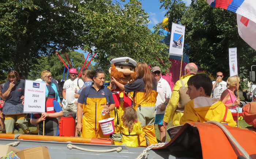
{"label": "thick pale rope lying over the orange boat tube at lower right", "polygon": [[251,157],[249,156],[249,154],[244,150],[244,148],[242,148],[242,146],[237,142],[237,140],[231,135],[231,133],[227,130],[227,128],[222,125],[221,123],[217,122],[217,121],[207,121],[206,123],[211,123],[211,124],[215,124],[218,127],[220,127],[222,129],[222,131],[227,135],[227,137],[229,138],[229,140],[234,144],[234,146],[236,146],[236,148],[241,152],[241,154],[246,158],[246,159],[251,159]]}

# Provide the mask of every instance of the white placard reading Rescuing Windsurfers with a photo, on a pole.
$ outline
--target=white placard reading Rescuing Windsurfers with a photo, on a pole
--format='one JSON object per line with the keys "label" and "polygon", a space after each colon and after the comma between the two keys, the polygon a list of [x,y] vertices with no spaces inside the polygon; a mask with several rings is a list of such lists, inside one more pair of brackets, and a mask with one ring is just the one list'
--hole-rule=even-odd
{"label": "white placard reading Rescuing Windsurfers with a photo, on a pole", "polygon": [[169,55],[182,56],[184,47],[185,26],[172,23]]}

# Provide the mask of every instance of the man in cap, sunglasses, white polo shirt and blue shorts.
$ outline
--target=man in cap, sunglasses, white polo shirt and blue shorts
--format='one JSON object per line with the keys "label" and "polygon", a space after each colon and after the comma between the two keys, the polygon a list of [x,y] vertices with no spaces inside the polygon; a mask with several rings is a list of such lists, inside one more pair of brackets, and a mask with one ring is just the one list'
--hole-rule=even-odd
{"label": "man in cap, sunglasses, white polo shirt and blue shorts", "polygon": [[165,115],[165,108],[169,103],[172,90],[168,82],[161,77],[161,69],[158,66],[153,67],[152,75],[157,80],[157,102],[155,103],[156,114],[155,124],[158,125],[160,132],[160,140],[162,143],[166,140],[166,129],[163,126],[163,116]]}

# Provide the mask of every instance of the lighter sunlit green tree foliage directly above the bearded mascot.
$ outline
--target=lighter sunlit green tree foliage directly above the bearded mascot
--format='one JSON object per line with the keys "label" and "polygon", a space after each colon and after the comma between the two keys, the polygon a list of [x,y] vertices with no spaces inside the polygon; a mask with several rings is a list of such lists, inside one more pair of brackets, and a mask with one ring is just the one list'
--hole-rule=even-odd
{"label": "lighter sunlit green tree foliage directly above the bearded mascot", "polygon": [[87,24],[87,34],[82,36],[84,50],[98,53],[95,60],[103,70],[108,70],[111,59],[128,56],[168,71],[169,55],[166,45],[160,43],[163,36],[147,28],[148,15],[138,0],[124,5],[112,4],[112,0],[87,1],[79,11],[84,15],[80,20]]}

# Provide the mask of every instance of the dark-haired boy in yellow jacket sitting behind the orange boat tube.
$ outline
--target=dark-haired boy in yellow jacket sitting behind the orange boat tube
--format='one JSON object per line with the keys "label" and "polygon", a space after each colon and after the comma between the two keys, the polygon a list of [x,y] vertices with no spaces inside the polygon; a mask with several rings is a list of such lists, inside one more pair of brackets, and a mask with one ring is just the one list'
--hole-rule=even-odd
{"label": "dark-haired boy in yellow jacket sitting behind the orange boat tube", "polygon": [[208,75],[196,74],[189,78],[187,94],[191,101],[185,105],[184,115],[180,120],[181,125],[192,121],[214,120],[232,127],[236,126],[227,106],[217,98],[210,98],[211,91],[212,82]]}

